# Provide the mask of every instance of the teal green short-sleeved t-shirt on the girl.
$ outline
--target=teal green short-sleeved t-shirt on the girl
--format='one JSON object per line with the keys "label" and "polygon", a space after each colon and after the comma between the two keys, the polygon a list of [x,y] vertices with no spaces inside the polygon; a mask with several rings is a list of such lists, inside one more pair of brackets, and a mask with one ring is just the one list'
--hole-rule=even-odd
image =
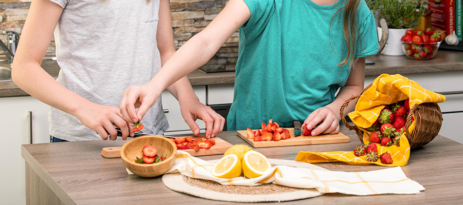
{"label": "teal green short-sleeved t-shirt on the girl", "polygon": [[[259,129],[269,119],[292,127],[294,120],[304,121],[332,103],[350,72],[350,61],[337,65],[347,54],[344,10],[334,15],[347,1],[319,6],[310,0],[244,0],[251,17],[239,29],[228,130]],[[375,54],[379,48],[375,20],[364,1],[357,20],[361,44],[355,57]]]}

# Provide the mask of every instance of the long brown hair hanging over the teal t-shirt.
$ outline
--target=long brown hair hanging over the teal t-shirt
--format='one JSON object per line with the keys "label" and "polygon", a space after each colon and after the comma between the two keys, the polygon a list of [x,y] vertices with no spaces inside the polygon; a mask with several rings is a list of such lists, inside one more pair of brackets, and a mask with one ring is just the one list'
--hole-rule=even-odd
{"label": "long brown hair hanging over the teal t-shirt", "polygon": [[[344,9],[343,33],[344,33],[344,39],[346,40],[347,55],[344,58],[344,60],[341,61],[341,63],[337,65],[345,66],[347,62],[350,60],[350,64],[349,64],[349,69],[350,69],[352,65],[355,65],[355,61],[357,61],[357,59],[355,59],[355,48],[357,47],[357,37],[355,37],[356,36],[355,34],[356,33],[360,34],[360,33],[359,33],[359,26],[357,25],[357,19],[355,19],[355,17],[357,16],[357,8],[359,7],[360,0],[345,0],[345,1],[347,1],[346,6],[337,10],[336,13]],[[336,15],[336,13],[334,13],[334,15]],[[331,18],[329,33],[331,33],[331,24],[333,23],[334,15]],[[330,40],[330,46],[331,46],[331,40]],[[360,48],[362,48],[362,40],[360,40]],[[360,50],[362,51],[362,49]]]}

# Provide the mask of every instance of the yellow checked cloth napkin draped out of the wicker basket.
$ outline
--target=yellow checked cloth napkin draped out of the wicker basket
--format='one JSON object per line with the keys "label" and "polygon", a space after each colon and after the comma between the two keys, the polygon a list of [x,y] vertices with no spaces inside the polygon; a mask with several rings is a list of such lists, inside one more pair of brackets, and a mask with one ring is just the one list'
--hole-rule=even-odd
{"label": "yellow checked cloth napkin draped out of the wicker basket", "polygon": [[[409,106],[412,108],[416,104],[421,103],[442,103],[446,97],[432,91],[422,88],[418,83],[410,80],[402,75],[382,74],[373,81],[371,87],[359,97],[355,110],[348,114],[352,122],[364,131],[363,144],[368,144],[370,132],[365,128],[369,128],[378,119],[381,110],[397,101],[409,98]],[[408,132],[412,132],[415,128],[415,122],[412,122],[408,127]],[[388,152],[393,158],[394,163],[386,165],[378,159],[376,162],[366,160],[366,156],[357,157],[352,151],[337,151],[337,152],[299,152],[296,160],[309,163],[317,162],[335,162],[343,161],[353,165],[367,165],[375,163],[381,166],[405,166],[408,163],[410,156],[410,145],[406,140],[406,134],[402,134],[400,139],[400,147],[393,145],[390,147],[378,146],[378,156]],[[352,148],[353,150],[353,148]]]}

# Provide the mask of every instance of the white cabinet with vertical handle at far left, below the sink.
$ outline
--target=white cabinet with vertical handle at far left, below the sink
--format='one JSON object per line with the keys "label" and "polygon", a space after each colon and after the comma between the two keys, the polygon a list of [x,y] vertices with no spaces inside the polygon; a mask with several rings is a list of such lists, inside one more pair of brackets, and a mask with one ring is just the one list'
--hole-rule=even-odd
{"label": "white cabinet with vertical handle at far left, below the sink", "polygon": [[49,106],[31,97],[0,98],[0,203],[25,204],[25,163],[21,145],[29,144],[29,111],[32,113],[33,144],[50,142]]}

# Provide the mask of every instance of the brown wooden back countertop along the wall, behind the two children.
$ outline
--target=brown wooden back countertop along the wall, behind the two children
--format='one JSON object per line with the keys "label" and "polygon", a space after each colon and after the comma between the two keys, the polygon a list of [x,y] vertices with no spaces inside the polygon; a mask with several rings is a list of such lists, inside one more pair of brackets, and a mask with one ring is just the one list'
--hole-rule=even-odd
{"label": "brown wooden back countertop along the wall, behind the two children", "polygon": [[[439,51],[430,60],[413,60],[406,56],[375,55],[367,59],[375,65],[365,67],[365,75],[429,73],[445,71],[463,71],[463,53],[457,51]],[[53,77],[58,77],[58,65],[45,65],[44,69]],[[235,72],[204,73],[195,70],[188,75],[192,86],[233,84]],[[27,96],[12,81],[0,82],[0,97]]]}

